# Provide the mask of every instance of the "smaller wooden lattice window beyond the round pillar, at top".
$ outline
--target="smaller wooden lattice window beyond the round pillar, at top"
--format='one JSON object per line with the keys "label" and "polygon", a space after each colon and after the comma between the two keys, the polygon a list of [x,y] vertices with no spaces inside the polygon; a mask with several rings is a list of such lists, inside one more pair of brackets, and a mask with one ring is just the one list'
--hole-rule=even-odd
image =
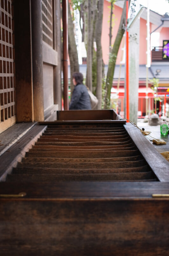
{"label": "smaller wooden lattice window beyond the round pillar, at top", "polygon": [[42,0],[42,40],[53,47],[52,0]]}

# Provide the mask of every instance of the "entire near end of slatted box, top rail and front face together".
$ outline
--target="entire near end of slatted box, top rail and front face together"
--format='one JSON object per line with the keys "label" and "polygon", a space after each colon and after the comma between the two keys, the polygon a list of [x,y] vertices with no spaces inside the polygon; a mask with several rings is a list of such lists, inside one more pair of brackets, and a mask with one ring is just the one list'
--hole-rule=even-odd
{"label": "entire near end of slatted box, top rail and front face together", "polygon": [[1,255],[168,255],[168,199],[152,198],[169,194],[162,185],[4,183],[1,194],[26,196],[0,199]]}

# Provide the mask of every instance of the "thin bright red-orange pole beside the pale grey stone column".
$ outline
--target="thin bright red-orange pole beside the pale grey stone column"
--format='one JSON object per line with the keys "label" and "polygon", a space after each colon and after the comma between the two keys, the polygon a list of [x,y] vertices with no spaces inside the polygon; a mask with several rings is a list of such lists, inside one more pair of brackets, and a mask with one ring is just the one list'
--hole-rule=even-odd
{"label": "thin bright red-orange pole beside the pale grey stone column", "polygon": [[127,31],[127,20],[129,1],[126,0],[126,118],[130,120],[129,110],[129,32]]}

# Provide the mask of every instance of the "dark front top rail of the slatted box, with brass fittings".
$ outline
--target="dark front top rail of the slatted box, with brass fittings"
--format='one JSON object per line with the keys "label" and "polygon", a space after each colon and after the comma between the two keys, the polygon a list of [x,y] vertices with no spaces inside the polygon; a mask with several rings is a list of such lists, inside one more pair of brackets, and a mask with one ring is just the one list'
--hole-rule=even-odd
{"label": "dark front top rail of the slatted box, with brass fittings", "polygon": [[[158,202],[152,194],[169,194],[168,182],[1,182],[0,194],[26,192],[27,198],[45,199],[147,199]],[[77,193],[78,192],[78,193]],[[24,198],[22,200],[24,200]],[[1,200],[5,200],[2,199]],[[9,199],[8,199],[9,200]],[[16,199],[15,199],[16,200]],[[19,199],[20,200],[20,199]],[[161,200],[161,199],[160,199]],[[165,198],[169,200],[169,198]]]}

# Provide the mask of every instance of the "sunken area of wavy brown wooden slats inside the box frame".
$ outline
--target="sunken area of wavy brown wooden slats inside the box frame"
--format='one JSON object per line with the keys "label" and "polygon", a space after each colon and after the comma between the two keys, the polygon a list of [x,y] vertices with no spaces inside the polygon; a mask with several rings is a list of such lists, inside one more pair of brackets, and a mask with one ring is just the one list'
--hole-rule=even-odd
{"label": "sunken area of wavy brown wooden slats inside the box frame", "polygon": [[155,181],[121,125],[48,125],[7,181]]}

